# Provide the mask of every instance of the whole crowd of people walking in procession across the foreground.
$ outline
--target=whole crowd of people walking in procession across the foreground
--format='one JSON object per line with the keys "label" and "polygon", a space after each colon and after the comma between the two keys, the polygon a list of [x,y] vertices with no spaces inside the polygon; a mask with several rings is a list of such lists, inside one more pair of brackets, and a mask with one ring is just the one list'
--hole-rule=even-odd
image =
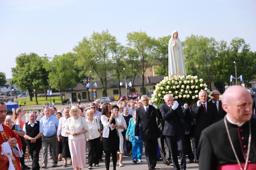
{"label": "whole crowd of people walking in procession across the foreground", "polygon": [[[104,104],[79,102],[59,109],[44,106],[42,112],[27,112],[26,120],[22,119],[23,108],[14,110],[12,119],[6,116],[6,106],[0,102],[0,161],[4,163],[0,168],[46,168],[50,159],[52,167],[62,159],[62,166],[66,167],[70,158],[73,168],[81,170],[87,167],[88,150],[88,169],[92,169],[93,164],[100,166],[104,151],[106,170],[110,168],[111,157],[115,170],[117,161],[118,166],[123,167],[123,156],[132,156],[134,164],[143,162],[144,144],[149,170],[155,169],[158,157],[162,157],[167,166],[173,163],[175,170],[186,169],[186,155],[188,163],[200,161],[200,169],[254,169],[253,96],[239,86],[226,90],[223,101],[217,90],[212,91],[212,95],[214,98],[209,101],[207,93],[201,91],[197,103],[182,106],[167,94],[160,109],[150,105],[146,95],[140,100]],[[222,133],[221,137],[216,136],[217,133]],[[13,147],[17,150],[11,150]],[[32,158],[31,168],[24,163],[26,148]],[[39,165],[41,148],[42,165]]]}

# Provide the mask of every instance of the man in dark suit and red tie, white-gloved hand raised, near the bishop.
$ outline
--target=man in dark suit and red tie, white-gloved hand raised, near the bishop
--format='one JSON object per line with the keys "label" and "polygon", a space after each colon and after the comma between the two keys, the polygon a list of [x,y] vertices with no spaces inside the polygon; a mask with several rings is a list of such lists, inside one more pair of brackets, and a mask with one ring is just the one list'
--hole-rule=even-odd
{"label": "man in dark suit and red tie, white-gloved hand raised, near the bishop", "polygon": [[[200,91],[199,92],[199,101],[197,103],[193,104],[193,113],[192,118],[196,119],[196,129],[195,129],[195,135],[196,135],[196,149],[198,148],[199,139],[201,136],[201,132],[206,127],[213,124],[214,115],[218,114],[218,110],[215,104],[207,102],[207,92],[206,91]],[[199,159],[199,157],[197,158]],[[198,160],[196,160],[196,163],[198,163]]]}

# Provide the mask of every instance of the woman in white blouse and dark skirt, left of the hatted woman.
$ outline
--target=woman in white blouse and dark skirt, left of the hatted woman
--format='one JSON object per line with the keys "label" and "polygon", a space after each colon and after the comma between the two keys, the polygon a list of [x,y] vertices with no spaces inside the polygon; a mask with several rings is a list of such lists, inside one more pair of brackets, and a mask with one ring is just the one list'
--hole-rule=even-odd
{"label": "woman in white blouse and dark skirt, left of the hatted woman", "polygon": [[[68,118],[70,118],[69,115],[69,109],[64,109],[63,111],[64,117],[61,117],[59,119],[59,126],[58,126],[58,141],[62,142],[62,157],[64,158],[64,164],[63,167],[67,166],[67,158],[71,158],[70,151],[69,151],[69,140],[68,140],[68,134],[65,133],[65,126]],[[72,160],[70,160],[70,164],[72,165]]]}

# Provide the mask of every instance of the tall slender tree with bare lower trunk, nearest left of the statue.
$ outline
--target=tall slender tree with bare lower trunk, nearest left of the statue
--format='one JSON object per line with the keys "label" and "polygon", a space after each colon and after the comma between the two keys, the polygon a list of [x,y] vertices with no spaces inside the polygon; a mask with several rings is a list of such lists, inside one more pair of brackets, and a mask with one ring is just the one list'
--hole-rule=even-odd
{"label": "tall slender tree with bare lower trunk, nearest left of the statue", "polygon": [[146,32],[129,32],[127,33],[128,46],[135,49],[139,58],[138,69],[142,76],[142,94],[145,94],[144,77],[146,68],[151,66],[153,48],[155,47],[155,38],[148,36]]}

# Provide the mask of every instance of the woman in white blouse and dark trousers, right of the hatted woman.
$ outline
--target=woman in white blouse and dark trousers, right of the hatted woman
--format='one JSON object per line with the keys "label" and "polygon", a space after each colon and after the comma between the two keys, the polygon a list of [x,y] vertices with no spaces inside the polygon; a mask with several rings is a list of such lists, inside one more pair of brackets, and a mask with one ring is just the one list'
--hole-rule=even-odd
{"label": "woman in white blouse and dark trousers, right of the hatted woman", "polygon": [[86,122],[89,126],[90,138],[86,139],[86,145],[88,148],[88,169],[92,169],[94,166],[99,167],[99,145],[102,141],[100,123],[99,120],[94,117],[94,111],[89,109],[86,111]]}

